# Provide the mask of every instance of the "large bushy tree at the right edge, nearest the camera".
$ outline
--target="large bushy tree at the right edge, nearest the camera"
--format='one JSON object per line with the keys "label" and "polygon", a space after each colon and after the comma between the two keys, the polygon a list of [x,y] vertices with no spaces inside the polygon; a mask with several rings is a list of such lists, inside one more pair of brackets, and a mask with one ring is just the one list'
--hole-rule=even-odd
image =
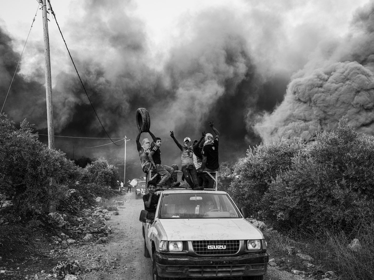
{"label": "large bushy tree at the right edge, nearest the camera", "polygon": [[278,227],[354,230],[373,217],[374,138],[339,121],[337,132],[318,134],[292,159],[263,197],[267,219]]}

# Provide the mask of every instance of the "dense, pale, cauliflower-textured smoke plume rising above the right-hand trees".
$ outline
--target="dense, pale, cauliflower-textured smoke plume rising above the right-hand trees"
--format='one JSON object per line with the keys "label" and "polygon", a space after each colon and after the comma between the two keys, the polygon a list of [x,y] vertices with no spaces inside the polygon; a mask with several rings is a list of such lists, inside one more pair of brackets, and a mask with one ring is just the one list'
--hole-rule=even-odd
{"label": "dense, pale, cauliflower-textured smoke plume rising above the right-hand trees", "polygon": [[284,101],[254,126],[263,141],[312,141],[336,129],[343,116],[359,133],[374,134],[373,12],[373,3],[358,9],[349,34],[322,41],[292,75]]}

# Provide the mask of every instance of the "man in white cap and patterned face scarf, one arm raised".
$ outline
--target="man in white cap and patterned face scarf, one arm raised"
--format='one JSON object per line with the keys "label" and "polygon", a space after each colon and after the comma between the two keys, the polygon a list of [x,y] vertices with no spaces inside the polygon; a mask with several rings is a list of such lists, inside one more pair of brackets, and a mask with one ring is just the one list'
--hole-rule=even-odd
{"label": "man in white cap and patterned face scarf, one arm raised", "polygon": [[186,182],[190,185],[193,190],[203,190],[203,187],[199,186],[197,181],[197,172],[195,165],[193,164],[193,148],[191,146],[191,139],[186,137],[183,140],[183,146],[174,137],[174,132],[170,131],[170,136],[177,144],[178,148],[181,150],[181,160],[182,160],[182,172]]}

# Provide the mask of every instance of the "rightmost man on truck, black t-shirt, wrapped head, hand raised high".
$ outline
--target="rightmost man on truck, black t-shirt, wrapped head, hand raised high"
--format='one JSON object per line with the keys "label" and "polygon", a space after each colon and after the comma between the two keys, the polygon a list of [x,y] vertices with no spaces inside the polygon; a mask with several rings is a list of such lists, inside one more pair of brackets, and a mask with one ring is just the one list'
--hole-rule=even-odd
{"label": "rightmost man on truck, black t-shirt, wrapped head, hand raised high", "polygon": [[[213,121],[209,122],[209,126],[215,133],[215,137],[213,139],[213,135],[210,133],[205,134],[205,142],[202,150],[203,161],[199,171],[217,171],[220,168],[218,164],[218,138],[220,137],[220,133],[217,129],[215,129]],[[205,181],[209,181],[209,188],[213,189],[215,185],[215,181],[209,174],[205,174]]]}

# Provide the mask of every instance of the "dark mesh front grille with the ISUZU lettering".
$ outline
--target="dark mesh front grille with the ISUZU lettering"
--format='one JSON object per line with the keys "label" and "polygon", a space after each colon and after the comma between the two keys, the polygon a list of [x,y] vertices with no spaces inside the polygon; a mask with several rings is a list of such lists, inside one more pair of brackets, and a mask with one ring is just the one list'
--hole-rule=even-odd
{"label": "dark mesh front grille with the ISUZU lettering", "polygon": [[239,251],[239,240],[197,240],[192,246],[198,255],[234,255]]}

